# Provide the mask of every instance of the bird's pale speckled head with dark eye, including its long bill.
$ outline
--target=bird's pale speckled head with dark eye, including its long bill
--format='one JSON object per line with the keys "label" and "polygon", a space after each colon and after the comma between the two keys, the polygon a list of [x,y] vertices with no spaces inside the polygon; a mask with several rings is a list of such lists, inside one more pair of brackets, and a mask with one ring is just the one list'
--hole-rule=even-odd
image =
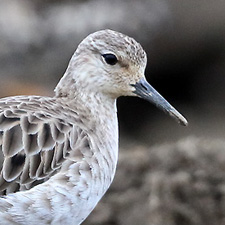
{"label": "bird's pale speckled head with dark eye, including its long bill", "polygon": [[187,120],[146,81],[146,64],[146,53],[137,41],[116,31],[101,30],[79,44],[65,77],[68,80],[70,76],[75,86],[88,94],[114,99],[138,96],[187,125]]}

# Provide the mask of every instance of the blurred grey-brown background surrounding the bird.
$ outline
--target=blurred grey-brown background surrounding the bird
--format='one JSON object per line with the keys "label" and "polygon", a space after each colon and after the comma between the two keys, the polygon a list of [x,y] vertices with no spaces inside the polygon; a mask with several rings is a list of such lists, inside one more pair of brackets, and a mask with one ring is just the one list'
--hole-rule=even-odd
{"label": "blurred grey-brown background surrounding the bird", "polygon": [[0,96],[53,95],[79,42],[110,28],[148,55],[146,77],[188,127],[120,98],[115,181],[84,224],[225,224],[224,0],[1,0]]}

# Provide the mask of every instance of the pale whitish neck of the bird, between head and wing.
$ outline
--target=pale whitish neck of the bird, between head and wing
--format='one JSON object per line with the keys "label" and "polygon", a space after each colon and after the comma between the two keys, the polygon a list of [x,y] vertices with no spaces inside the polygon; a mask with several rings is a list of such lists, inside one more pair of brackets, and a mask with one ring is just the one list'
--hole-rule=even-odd
{"label": "pale whitish neck of the bird, between head and wing", "polygon": [[[62,85],[61,85],[62,87]],[[80,128],[97,140],[100,154],[111,158],[110,174],[115,173],[118,160],[118,119],[116,99],[101,92],[74,85],[73,93],[57,97],[62,104],[79,115]],[[110,156],[108,156],[110,154]],[[110,178],[110,180],[112,180]]]}

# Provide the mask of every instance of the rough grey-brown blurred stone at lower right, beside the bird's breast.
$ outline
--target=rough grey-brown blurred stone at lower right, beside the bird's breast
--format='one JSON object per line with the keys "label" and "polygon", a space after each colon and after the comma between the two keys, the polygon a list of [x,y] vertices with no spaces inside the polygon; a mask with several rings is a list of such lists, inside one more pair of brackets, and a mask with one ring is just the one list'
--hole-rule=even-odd
{"label": "rough grey-brown blurred stone at lower right, beside the bird's breast", "polygon": [[190,137],[122,150],[112,187],[84,224],[224,224],[224,146]]}

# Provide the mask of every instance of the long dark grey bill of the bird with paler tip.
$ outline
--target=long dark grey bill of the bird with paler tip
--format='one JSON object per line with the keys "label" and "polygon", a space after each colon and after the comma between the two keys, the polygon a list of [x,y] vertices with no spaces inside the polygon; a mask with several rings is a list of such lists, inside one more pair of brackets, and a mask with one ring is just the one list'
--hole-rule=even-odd
{"label": "long dark grey bill of the bird with paler tip", "polygon": [[168,113],[173,117],[178,123],[183,126],[187,126],[187,120],[172,106],[167,102],[146,80],[141,78],[136,84],[131,84],[135,88],[133,91],[137,96],[153,103],[158,108]]}

